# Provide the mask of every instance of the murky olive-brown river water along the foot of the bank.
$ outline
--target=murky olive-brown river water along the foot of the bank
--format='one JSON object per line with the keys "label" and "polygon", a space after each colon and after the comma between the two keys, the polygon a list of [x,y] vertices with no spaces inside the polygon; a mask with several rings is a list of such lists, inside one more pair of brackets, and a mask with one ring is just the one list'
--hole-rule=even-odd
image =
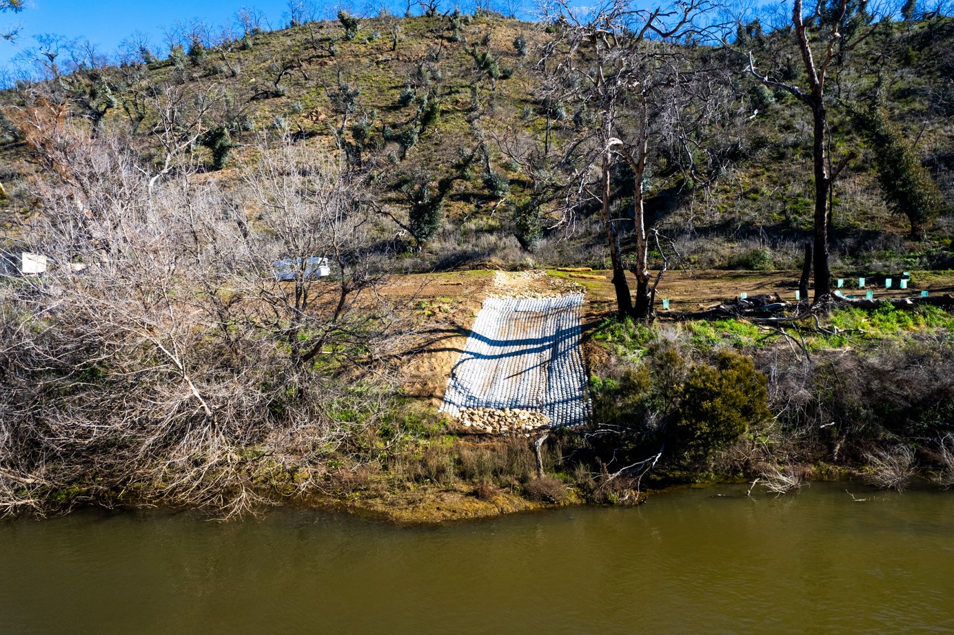
{"label": "murky olive-brown river water along the foot of the bank", "polygon": [[954,492],[745,491],[432,527],[0,522],[0,633],[954,632]]}

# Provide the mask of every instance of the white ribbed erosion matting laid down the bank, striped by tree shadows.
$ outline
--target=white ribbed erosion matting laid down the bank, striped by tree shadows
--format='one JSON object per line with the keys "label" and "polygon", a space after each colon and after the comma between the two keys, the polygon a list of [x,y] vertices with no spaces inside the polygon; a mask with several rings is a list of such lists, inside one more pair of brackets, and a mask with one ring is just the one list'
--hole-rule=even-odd
{"label": "white ribbed erosion matting laid down the bank, striped by tree shadows", "polygon": [[454,364],[441,411],[520,408],[547,415],[551,426],[590,416],[580,351],[583,295],[488,297]]}

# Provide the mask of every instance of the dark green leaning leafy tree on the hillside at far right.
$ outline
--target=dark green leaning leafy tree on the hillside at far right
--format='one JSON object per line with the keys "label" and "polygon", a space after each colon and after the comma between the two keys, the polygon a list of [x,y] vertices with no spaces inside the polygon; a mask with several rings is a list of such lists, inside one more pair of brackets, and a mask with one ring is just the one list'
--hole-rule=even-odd
{"label": "dark green leaning leafy tree on the hillside at far right", "polygon": [[856,113],[861,133],[871,142],[884,198],[911,221],[911,237],[924,238],[927,225],[941,214],[943,199],[914,146],[883,110]]}

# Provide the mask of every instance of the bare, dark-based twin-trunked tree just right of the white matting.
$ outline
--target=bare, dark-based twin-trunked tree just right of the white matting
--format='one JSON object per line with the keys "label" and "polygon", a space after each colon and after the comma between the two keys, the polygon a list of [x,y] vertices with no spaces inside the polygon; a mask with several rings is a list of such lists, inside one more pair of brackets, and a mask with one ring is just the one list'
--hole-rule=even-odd
{"label": "bare, dark-based twin-trunked tree just right of the white matting", "polygon": [[[654,98],[657,92],[683,81],[686,61],[677,54],[674,42],[700,37],[705,29],[699,21],[708,8],[704,0],[647,10],[613,0],[590,13],[571,8],[566,0],[557,0],[547,8],[546,16],[560,37],[545,49],[543,63],[552,59],[556,66],[552,75],[562,79],[564,87],[570,86],[561,97],[592,108],[599,121],[594,135],[598,158],[592,160],[594,166],[599,165],[600,174],[600,191],[595,197],[600,201],[621,317],[652,316],[643,183],[651,150]],[[627,116],[629,106],[633,107],[632,116]],[[633,208],[628,218],[611,215],[610,172],[617,156],[633,171]],[[630,222],[635,236],[634,301],[619,243],[622,227]]]}

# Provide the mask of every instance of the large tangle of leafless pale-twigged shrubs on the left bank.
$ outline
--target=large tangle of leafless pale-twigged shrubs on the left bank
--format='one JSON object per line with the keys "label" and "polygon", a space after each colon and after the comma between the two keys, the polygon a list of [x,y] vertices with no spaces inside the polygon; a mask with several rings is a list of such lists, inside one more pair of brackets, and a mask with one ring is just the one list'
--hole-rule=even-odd
{"label": "large tangle of leafless pale-twigged shrubs on the left bank", "polygon": [[[351,452],[386,408],[362,369],[397,320],[367,293],[363,197],[337,163],[263,142],[242,204],[108,133],[36,125],[52,170],[27,230],[53,267],[0,278],[0,513],[68,491],[229,517]],[[308,256],[333,276],[275,279]]]}

